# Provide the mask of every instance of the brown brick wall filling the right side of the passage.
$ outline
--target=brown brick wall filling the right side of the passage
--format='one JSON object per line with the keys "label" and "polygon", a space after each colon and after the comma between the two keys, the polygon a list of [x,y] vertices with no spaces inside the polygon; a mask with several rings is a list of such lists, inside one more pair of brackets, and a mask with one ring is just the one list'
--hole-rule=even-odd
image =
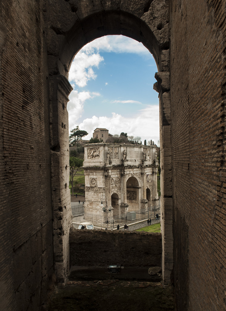
{"label": "brown brick wall filling the right side of the passage", "polygon": [[225,1],[171,1],[178,310],[225,310]]}

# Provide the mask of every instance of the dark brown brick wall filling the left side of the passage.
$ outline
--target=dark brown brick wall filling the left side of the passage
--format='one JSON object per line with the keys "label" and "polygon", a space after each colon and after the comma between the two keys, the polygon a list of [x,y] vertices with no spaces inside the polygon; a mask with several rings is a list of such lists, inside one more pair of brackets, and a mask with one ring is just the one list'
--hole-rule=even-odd
{"label": "dark brown brick wall filling the left side of the passage", "polygon": [[0,309],[38,310],[53,274],[42,1],[0,2]]}

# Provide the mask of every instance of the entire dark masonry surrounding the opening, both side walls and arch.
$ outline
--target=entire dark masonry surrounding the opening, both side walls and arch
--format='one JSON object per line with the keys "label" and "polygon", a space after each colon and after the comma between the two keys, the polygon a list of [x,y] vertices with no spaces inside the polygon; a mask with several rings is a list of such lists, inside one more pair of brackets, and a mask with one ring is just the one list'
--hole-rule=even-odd
{"label": "entire dark masonry surrounding the opening, both side walls and arch", "polygon": [[164,281],[174,248],[177,308],[225,309],[225,0],[8,0],[0,8],[1,308],[38,310],[53,267],[65,280],[66,78],[82,46],[123,34],[153,53],[159,71]]}

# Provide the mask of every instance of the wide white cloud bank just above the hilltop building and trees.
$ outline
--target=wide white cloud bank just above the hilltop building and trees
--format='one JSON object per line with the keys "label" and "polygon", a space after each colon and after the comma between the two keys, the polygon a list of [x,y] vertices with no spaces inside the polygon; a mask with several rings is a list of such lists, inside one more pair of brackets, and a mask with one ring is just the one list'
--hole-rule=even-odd
{"label": "wide white cloud bank just above the hilltop building and trees", "polygon": [[159,140],[159,106],[151,105],[139,110],[134,118],[127,118],[121,114],[112,113],[109,117],[96,117],[84,119],[79,124],[79,128],[84,129],[89,134],[87,139],[93,137],[95,128],[107,128],[112,135],[126,132],[129,136],[140,136],[142,143],[152,139],[157,143]]}

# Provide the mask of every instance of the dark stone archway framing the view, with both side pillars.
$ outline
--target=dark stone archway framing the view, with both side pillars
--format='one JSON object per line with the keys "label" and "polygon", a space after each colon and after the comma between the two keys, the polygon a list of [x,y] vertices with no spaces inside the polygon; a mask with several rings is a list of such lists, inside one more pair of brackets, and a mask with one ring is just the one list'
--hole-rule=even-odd
{"label": "dark stone archway framing the view, with both side pillars", "polygon": [[[63,282],[69,271],[70,194],[68,82],[70,64],[75,54],[88,42],[104,35],[126,35],[142,42],[156,60],[158,72],[154,89],[160,99],[161,144],[161,227],[162,271],[164,282],[170,282],[173,267],[172,186],[171,186],[171,120],[169,81],[169,3],[166,0],[128,0],[85,2],[49,2],[47,50],[50,96],[50,143],[52,170],[52,210],[54,260],[57,280]],[[165,193],[164,193],[165,192]],[[165,246],[167,254],[164,254]]]}

